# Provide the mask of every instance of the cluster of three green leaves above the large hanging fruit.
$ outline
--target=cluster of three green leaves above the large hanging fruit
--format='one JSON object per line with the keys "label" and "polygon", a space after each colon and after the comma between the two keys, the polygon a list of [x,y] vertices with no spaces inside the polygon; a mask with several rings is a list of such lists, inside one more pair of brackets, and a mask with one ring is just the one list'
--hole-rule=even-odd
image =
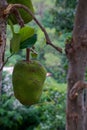
{"label": "cluster of three green leaves above the large hanging fruit", "polygon": [[37,35],[34,28],[29,26],[23,27],[19,32],[13,32],[13,37],[10,41],[10,52],[18,53],[19,50],[31,48],[37,41]]}

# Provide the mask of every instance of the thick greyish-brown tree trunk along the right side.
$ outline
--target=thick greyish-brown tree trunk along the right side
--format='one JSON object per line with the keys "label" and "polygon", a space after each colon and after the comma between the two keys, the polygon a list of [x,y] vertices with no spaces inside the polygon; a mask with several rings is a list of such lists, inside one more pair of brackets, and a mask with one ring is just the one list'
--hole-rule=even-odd
{"label": "thick greyish-brown tree trunk along the right side", "polygon": [[[66,130],[87,130],[85,127],[84,89],[75,99],[70,99],[70,91],[78,81],[84,82],[87,67],[87,0],[79,0],[72,41],[66,44],[66,55],[69,60],[68,92],[66,109]],[[80,84],[79,84],[80,86]]]}

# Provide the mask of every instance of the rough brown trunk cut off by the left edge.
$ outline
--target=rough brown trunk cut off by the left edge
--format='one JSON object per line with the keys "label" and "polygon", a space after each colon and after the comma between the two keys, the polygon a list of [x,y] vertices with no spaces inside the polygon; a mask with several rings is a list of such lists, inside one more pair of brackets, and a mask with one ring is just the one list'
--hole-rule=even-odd
{"label": "rough brown trunk cut off by the left edge", "polygon": [[[6,45],[6,17],[3,15],[3,11],[7,6],[6,0],[0,0],[0,68],[4,62],[4,52]],[[0,94],[2,87],[2,70],[0,70]]]}

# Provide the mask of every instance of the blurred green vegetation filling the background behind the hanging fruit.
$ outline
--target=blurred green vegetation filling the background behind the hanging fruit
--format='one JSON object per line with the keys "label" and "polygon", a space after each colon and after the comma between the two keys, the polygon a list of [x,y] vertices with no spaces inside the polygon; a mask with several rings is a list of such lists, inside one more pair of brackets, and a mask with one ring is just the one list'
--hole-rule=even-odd
{"label": "blurred green vegetation filling the background behind the hanging fruit", "polygon": [[[25,51],[14,55],[6,64],[3,71],[3,88],[0,101],[0,129],[1,130],[65,130],[66,78],[68,61],[64,47],[67,39],[72,37],[75,0],[32,0],[36,17],[44,25],[52,42],[63,48],[59,54],[45,44],[44,35],[34,22],[29,25],[35,27],[38,34],[36,51],[38,60],[51,73],[47,77],[41,100],[32,106],[23,106],[14,97],[10,70],[17,60],[25,58]],[[19,27],[16,25],[15,31]],[[7,27],[6,57],[10,55],[9,41],[10,27]]]}

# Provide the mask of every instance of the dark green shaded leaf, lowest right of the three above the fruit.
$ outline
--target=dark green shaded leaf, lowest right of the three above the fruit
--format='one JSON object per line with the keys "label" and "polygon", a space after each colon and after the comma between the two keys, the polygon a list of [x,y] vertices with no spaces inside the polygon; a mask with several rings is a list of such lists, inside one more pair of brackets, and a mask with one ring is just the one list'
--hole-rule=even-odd
{"label": "dark green shaded leaf, lowest right of the three above the fruit", "polygon": [[20,43],[20,49],[31,48],[37,41],[37,35],[34,34],[32,37],[26,39]]}

